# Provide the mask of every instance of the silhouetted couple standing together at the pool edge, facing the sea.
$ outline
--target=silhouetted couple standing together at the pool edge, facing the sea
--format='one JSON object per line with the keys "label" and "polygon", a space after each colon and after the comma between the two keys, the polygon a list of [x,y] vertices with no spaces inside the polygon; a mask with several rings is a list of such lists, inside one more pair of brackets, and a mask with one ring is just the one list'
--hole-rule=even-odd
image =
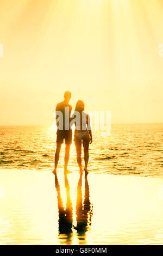
{"label": "silhouetted couple standing together at the pool edge, facing the sea", "polygon": [[79,165],[80,173],[82,169],[82,144],[84,148],[84,162],[85,162],[85,174],[87,174],[87,164],[89,161],[89,144],[92,143],[92,131],[90,126],[90,117],[84,112],[84,102],[82,100],[77,101],[76,108],[71,115],[72,106],[68,104],[71,99],[71,93],[65,92],[65,100],[58,103],[56,112],[57,123],[57,149],[55,151],[55,167],[53,173],[57,173],[57,166],[59,161],[60,149],[62,143],[65,140],[65,173],[70,173],[67,170],[68,160],[70,157],[70,146],[72,143],[72,125],[74,124],[76,129],[74,131],[74,143],[76,145],[77,162]]}

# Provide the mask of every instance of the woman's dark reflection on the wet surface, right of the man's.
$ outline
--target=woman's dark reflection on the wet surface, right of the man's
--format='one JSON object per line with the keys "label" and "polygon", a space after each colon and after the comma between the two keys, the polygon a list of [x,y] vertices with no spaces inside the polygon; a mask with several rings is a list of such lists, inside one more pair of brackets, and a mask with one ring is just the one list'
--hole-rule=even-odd
{"label": "woman's dark reflection on the wet surface, right of the man's", "polygon": [[77,230],[79,240],[83,240],[85,237],[85,232],[87,231],[88,227],[91,225],[92,206],[90,202],[90,191],[89,191],[87,176],[85,178],[85,194],[84,194],[84,203],[83,203],[82,174],[80,174],[80,178],[78,181],[76,215],[77,215],[77,225],[76,227],[74,227],[74,229]]}

